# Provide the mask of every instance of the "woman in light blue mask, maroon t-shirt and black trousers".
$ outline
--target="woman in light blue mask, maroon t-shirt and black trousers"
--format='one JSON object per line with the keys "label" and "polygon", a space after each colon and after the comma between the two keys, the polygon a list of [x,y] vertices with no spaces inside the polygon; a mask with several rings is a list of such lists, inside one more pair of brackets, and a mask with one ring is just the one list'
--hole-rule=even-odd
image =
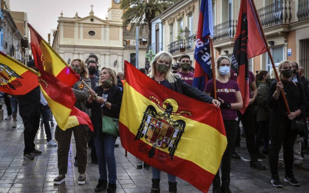
{"label": "woman in light blue mask, maroon t-shirt and black trousers", "polygon": [[[237,82],[230,80],[230,59],[219,56],[217,59],[216,87],[217,96],[221,101],[221,113],[226,132],[227,146],[222,156],[221,172],[222,186],[220,187],[219,171],[214,177],[213,192],[230,191],[231,155],[236,141],[238,129],[237,109],[243,107],[243,100]],[[204,92],[210,96],[214,95],[214,83],[210,80],[206,83]]]}

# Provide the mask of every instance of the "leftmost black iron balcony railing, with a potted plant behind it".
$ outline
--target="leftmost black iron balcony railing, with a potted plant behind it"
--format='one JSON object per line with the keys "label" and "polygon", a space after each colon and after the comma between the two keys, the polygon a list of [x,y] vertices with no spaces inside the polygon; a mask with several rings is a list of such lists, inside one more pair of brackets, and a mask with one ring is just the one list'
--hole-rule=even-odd
{"label": "leftmost black iron balcony railing, with a potted plant behind it", "polygon": [[194,49],[193,43],[194,43],[193,36],[190,36],[187,39],[176,40],[168,45],[168,52],[173,54],[180,51],[193,50]]}

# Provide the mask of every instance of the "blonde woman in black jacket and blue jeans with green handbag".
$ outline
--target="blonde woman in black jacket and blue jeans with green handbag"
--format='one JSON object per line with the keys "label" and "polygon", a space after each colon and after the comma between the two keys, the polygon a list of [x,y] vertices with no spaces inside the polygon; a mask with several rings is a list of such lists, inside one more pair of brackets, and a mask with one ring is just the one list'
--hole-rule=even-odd
{"label": "blonde woman in black jacket and blue jeans with green handbag", "polygon": [[[94,127],[95,149],[99,164],[99,183],[95,192],[102,191],[107,187],[108,193],[116,192],[116,160],[114,154],[116,136],[102,133],[102,112],[104,116],[119,119],[122,92],[116,86],[116,72],[110,67],[103,67],[100,71],[99,86],[89,91],[86,106],[91,109]],[[95,94],[97,97],[95,98]],[[106,168],[107,166],[107,168]],[[108,175],[107,175],[108,170]],[[108,177],[108,181],[107,181]],[[108,182],[108,183],[107,183]]]}

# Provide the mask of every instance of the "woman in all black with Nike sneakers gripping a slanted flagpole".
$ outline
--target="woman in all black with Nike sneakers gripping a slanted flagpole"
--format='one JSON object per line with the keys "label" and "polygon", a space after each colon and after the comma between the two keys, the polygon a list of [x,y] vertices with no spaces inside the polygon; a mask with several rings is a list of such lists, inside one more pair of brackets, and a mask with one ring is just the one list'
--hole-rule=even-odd
{"label": "woman in all black with Nike sneakers gripping a slanted flagpole", "polygon": [[[302,85],[291,80],[293,71],[290,61],[284,60],[279,66],[280,82],[272,82],[267,96],[267,105],[270,110],[269,135],[271,145],[269,148],[269,167],[272,175],[271,183],[275,187],[283,187],[277,167],[278,157],[281,145],[283,144],[285,178],[286,183],[293,186],[299,186],[300,183],[293,174],[293,146],[297,136],[296,132],[291,131],[291,122],[299,119],[306,110],[306,98]],[[284,89],[286,99],[290,108],[290,114],[287,114],[281,90]]]}

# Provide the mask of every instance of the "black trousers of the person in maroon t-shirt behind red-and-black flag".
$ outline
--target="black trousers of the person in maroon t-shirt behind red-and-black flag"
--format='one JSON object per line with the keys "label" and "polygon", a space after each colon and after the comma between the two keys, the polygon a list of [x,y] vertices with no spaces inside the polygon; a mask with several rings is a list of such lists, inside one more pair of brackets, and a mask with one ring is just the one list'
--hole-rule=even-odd
{"label": "black trousers of the person in maroon t-shirt behind red-and-black flag", "polygon": [[257,160],[255,148],[255,120],[254,120],[254,107],[249,105],[245,112],[237,113],[239,120],[243,124],[243,129],[246,135],[247,150],[250,154],[251,161]]}

